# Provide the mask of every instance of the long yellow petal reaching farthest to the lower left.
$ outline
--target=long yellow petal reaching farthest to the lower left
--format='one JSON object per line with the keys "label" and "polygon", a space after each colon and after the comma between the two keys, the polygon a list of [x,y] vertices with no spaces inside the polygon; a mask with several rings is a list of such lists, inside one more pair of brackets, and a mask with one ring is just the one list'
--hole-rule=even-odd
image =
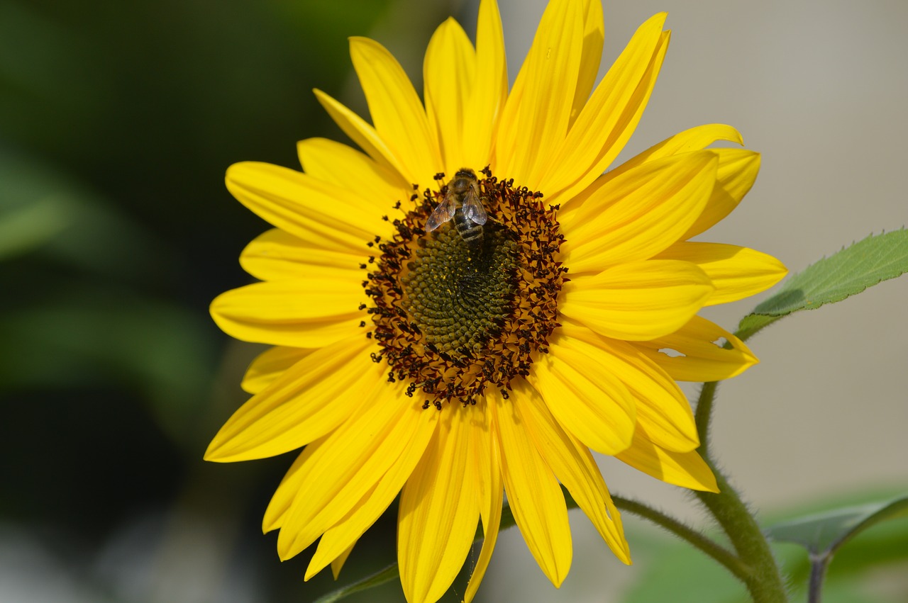
{"label": "long yellow petal reaching farthest to the lower left", "polygon": [[329,433],[384,382],[384,368],[369,359],[374,346],[354,336],[312,352],[233,413],[209,444],[205,459],[261,459]]}

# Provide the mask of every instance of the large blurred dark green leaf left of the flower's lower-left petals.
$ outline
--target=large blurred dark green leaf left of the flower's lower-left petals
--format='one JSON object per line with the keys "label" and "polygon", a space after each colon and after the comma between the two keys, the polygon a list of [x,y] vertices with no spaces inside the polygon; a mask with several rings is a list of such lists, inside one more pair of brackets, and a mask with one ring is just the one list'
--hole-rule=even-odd
{"label": "large blurred dark green leaf left of the flower's lower-left petals", "polygon": [[15,350],[0,364],[0,395],[122,387],[176,441],[196,443],[217,365],[206,316],[123,287],[59,280],[54,296],[0,313],[0,340]]}

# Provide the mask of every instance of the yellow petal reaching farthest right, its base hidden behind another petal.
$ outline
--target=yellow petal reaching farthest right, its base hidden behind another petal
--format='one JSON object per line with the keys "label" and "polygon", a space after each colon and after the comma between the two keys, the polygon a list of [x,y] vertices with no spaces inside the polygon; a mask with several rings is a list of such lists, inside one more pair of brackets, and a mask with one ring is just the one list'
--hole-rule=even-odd
{"label": "yellow petal reaching farthest right, its base hidden behind another petal", "polygon": [[754,249],[721,243],[676,243],[657,258],[679,259],[700,267],[716,290],[706,306],[725,304],[765,291],[788,270],[779,260]]}

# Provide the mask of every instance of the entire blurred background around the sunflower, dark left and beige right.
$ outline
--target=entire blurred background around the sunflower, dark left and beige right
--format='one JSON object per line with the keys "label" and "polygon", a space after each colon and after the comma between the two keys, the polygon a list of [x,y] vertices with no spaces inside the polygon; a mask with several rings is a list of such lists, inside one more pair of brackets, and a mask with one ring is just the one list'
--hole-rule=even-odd
{"label": "entire blurred background around the sunflower, dark left and beige right", "polygon": [[[456,15],[472,34],[477,4],[0,0],[0,601],[309,601],[336,586],[304,584],[308,554],[281,564],[259,533],[291,456],[201,461],[258,352],[207,315],[248,282],[236,258],[267,228],[223,170],[294,166],[295,141],[343,139],[311,88],[361,110],[347,36],[387,45],[419,82],[431,32]],[[544,3],[500,4],[513,78]],[[908,3],[608,2],[603,70],[663,10],[666,63],[620,159],[709,122],[763,153],[754,190],[701,238],[799,271],[908,221]],[[902,278],[787,318],[751,341],[762,364],[720,387],[714,451],[763,517],[908,489],[905,299]],[[734,330],[757,301],[705,314]],[[601,466],[613,493],[703,522],[675,488]],[[481,600],[665,600],[640,588],[669,545],[626,518],[630,569],[571,512],[560,590],[504,532]],[[341,583],[390,562],[393,535],[392,513]],[[903,579],[886,588],[873,600],[908,597]],[[687,593],[672,600],[706,600]]]}

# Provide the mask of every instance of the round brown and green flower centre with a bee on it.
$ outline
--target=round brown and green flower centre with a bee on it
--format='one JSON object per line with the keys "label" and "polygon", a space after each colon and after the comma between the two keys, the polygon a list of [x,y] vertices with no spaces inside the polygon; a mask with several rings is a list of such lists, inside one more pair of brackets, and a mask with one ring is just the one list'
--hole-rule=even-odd
{"label": "round brown and green flower centre with a bee on it", "polygon": [[476,404],[489,386],[507,397],[558,326],[567,272],[556,261],[558,207],[488,168],[483,175],[459,170],[440,190],[424,190],[393,221],[393,238],[370,243],[381,252],[363,281],[375,326],[368,336],[382,348],[372,360],[388,363],[390,382],[409,382],[407,395],[425,395],[425,408]]}

